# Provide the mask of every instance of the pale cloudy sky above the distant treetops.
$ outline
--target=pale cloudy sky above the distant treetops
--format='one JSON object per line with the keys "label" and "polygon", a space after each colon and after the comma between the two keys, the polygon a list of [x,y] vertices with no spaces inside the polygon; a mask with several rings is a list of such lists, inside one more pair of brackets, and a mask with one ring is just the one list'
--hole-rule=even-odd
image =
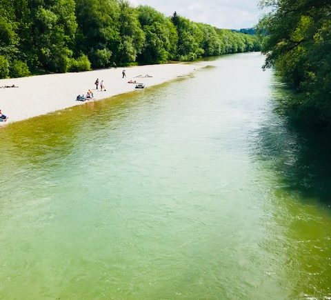
{"label": "pale cloudy sky above the distant treetops", "polygon": [[134,6],[148,5],[170,16],[183,17],[217,28],[250,28],[257,24],[259,0],[130,0]]}

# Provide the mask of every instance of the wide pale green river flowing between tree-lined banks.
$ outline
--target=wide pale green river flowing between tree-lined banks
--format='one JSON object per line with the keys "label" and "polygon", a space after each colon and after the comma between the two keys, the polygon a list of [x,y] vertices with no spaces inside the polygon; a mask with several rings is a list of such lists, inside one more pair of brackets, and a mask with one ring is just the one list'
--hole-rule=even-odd
{"label": "wide pale green river flowing between tree-lined banks", "polygon": [[260,54],[0,128],[0,299],[331,299],[331,146]]}

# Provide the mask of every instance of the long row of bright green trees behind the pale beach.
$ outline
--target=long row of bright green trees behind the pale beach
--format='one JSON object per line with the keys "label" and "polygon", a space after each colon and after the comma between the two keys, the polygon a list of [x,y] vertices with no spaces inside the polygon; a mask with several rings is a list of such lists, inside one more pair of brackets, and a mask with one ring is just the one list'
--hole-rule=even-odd
{"label": "long row of bright green trees behind the pale beach", "polygon": [[257,37],[126,0],[1,0],[0,78],[260,49]]}

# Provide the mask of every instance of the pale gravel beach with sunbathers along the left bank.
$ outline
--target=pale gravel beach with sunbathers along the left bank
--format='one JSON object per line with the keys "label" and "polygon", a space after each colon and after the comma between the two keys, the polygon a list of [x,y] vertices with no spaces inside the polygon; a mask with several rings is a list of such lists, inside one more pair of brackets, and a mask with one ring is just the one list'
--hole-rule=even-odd
{"label": "pale gravel beach with sunbathers along the left bank", "polygon": [[[188,75],[198,68],[201,68],[201,65],[183,63],[134,66],[125,68],[124,79],[122,79],[122,68],[1,79],[0,87],[14,84],[19,88],[0,88],[0,109],[9,117],[7,122],[0,122],[0,125],[81,105],[85,102],[75,99],[78,94],[86,94],[88,89],[93,90],[94,101],[97,101],[132,92],[135,85],[128,83],[130,79],[145,83],[148,88]],[[152,77],[138,78],[139,75],[146,74]],[[94,81],[97,78],[99,81],[103,79],[106,92],[94,90]]]}

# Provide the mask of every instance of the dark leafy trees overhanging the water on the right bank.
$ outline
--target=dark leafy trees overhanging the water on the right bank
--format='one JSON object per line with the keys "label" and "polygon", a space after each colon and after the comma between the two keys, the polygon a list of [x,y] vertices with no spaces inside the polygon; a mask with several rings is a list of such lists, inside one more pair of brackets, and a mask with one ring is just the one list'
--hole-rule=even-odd
{"label": "dark leafy trees overhanging the water on the right bank", "polygon": [[298,90],[286,105],[296,117],[331,125],[331,1],[264,0],[265,68],[274,66]]}

